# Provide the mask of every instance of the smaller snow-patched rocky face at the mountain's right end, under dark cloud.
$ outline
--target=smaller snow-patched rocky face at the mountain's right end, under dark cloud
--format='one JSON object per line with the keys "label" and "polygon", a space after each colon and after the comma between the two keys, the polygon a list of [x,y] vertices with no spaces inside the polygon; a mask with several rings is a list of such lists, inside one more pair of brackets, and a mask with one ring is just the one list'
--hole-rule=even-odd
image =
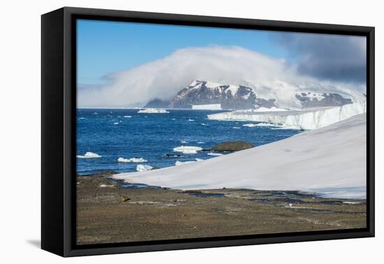
{"label": "smaller snow-patched rocky face at the mountain's right end, under dark cloud", "polygon": [[316,94],[316,93],[301,93],[296,94],[297,100],[302,103],[303,108],[316,108],[324,106],[341,106],[352,103],[350,98],[344,98],[340,94]]}

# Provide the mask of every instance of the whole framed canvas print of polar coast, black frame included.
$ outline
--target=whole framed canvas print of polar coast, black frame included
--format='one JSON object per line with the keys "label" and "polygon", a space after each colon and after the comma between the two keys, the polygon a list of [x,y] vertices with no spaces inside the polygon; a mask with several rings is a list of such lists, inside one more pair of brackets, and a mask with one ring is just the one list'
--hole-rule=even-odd
{"label": "whole framed canvas print of polar coast, black frame included", "polygon": [[42,248],[374,236],[374,28],[42,16]]}

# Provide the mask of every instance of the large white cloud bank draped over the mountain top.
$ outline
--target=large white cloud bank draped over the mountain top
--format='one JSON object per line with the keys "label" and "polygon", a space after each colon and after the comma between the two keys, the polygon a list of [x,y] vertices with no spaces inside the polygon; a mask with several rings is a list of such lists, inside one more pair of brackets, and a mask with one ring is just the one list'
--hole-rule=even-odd
{"label": "large white cloud bank draped over the mountain top", "polygon": [[193,80],[256,85],[309,80],[295,66],[234,46],[189,47],[163,59],[108,75],[110,85],[77,90],[77,106],[141,107],[154,98],[169,100]]}

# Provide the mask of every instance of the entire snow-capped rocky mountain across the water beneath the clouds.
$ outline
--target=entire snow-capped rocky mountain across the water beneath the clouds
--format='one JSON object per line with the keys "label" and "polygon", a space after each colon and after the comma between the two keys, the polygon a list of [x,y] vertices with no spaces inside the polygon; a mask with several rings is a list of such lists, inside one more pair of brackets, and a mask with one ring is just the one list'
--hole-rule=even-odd
{"label": "entire snow-capped rocky mountain across the water beneath the clouds", "polygon": [[313,82],[291,83],[279,80],[256,84],[223,84],[195,80],[170,101],[154,99],[146,107],[193,108],[193,105],[221,105],[221,109],[306,108],[341,106],[364,101],[364,94],[345,87]]}

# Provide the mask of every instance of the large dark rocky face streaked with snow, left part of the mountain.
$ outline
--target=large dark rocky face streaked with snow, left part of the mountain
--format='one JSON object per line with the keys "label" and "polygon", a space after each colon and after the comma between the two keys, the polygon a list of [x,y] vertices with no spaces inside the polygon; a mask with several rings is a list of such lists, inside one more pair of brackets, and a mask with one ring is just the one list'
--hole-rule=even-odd
{"label": "large dark rocky face streaked with snow, left part of the mountain", "polygon": [[[268,102],[270,105],[270,101]],[[260,103],[265,103],[260,101]],[[223,109],[253,109],[256,94],[250,87],[242,85],[218,85],[195,81],[179,91],[171,101],[172,108],[191,108],[192,105],[221,104]]]}

